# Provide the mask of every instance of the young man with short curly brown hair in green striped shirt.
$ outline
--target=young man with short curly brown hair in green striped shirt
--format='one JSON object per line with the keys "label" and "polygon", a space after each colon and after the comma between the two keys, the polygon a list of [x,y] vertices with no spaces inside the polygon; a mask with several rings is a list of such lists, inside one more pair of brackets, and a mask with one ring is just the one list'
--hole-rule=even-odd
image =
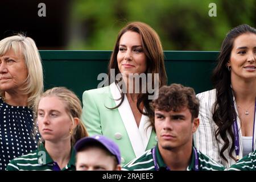
{"label": "young man with short curly brown hair in green striped shirt", "polygon": [[224,170],[193,147],[193,133],[199,126],[199,100],[192,88],[171,84],[159,89],[159,97],[151,102],[154,115],[151,126],[158,143],[142,156],[123,166],[123,170]]}

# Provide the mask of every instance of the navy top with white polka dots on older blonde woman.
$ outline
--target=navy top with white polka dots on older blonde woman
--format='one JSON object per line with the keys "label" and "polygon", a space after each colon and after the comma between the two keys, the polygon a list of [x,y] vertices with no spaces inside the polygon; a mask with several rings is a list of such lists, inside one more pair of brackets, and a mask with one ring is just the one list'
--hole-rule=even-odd
{"label": "navy top with white polka dots on older blonde woman", "polygon": [[37,148],[33,126],[31,109],[8,105],[0,97],[0,170],[5,170],[11,159]]}

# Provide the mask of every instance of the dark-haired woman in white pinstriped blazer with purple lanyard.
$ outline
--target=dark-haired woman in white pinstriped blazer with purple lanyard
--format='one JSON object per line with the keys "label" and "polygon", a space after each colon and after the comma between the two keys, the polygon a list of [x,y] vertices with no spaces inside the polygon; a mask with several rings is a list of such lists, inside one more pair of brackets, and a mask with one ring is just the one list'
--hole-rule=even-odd
{"label": "dark-haired woman in white pinstriped blazer with purple lanyard", "polygon": [[233,28],[222,43],[213,90],[197,95],[200,126],[195,145],[229,168],[255,150],[256,30]]}

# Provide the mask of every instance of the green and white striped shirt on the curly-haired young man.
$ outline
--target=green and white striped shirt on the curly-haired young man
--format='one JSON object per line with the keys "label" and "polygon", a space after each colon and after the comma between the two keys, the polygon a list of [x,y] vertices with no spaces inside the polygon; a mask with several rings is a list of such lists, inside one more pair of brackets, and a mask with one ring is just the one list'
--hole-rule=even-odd
{"label": "green and white striped shirt on the curly-haired young man", "polygon": [[[166,168],[166,164],[163,161],[162,156],[160,155],[158,144],[156,144],[156,162],[158,163],[159,168]],[[210,159],[208,156],[202,154],[200,151],[197,151],[199,157],[199,170],[200,171],[223,171],[225,168]],[[155,165],[152,155],[152,149],[144,152],[142,156],[131,160],[122,168],[123,171],[155,171]],[[192,158],[187,171],[195,171],[195,154],[192,151]]]}

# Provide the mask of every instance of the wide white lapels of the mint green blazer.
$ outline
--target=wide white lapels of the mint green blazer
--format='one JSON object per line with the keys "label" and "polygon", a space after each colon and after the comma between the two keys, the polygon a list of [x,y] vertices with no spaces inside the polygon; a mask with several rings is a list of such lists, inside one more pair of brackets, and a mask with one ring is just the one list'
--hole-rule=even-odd
{"label": "wide white lapels of the mint green blazer", "polygon": [[[121,91],[114,82],[110,84],[110,92],[112,93],[112,96],[115,100],[115,104],[118,105],[121,102],[121,100],[117,100],[121,98]],[[146,115],[142,115],[138,129],[133,111],[131,111],[129,101],[127,100],[126,96],[121,106],[118,107],[118,111],[121,115],[123,124],[125,125],[125,129],[129,136],[131,146],[133,147],[133,151],[136,157],[141,156],[146,150],[147,143],[152,131],[152,127],[149,127],[146,130],[147,126],[149,125],[147,122],[148,117]]]}

